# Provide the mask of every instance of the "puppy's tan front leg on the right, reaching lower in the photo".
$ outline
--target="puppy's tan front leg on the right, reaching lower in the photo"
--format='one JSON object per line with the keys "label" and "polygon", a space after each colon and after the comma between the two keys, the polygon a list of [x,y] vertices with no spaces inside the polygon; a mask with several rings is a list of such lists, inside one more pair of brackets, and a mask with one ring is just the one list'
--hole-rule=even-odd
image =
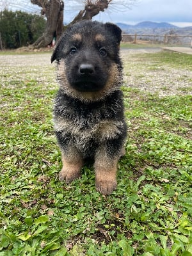
{"label": "puppy's tan front leg on the right, reaching lower in the photo", "polygon": [[105,148],[95,154],[95,187],[103,195],[109,195],[116,189],[116,170],[118,157],[109,157]]}

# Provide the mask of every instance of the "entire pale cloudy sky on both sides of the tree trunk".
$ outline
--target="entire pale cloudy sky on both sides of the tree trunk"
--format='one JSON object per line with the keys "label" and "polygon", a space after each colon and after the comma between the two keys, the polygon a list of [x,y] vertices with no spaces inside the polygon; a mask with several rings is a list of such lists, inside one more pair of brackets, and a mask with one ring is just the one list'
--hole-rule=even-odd
{"label": "entire pale cloudy sky on both sides of the tree trunk", "polygon": [[[64,22],[68,23],[83,10],[83,0],[63,0],[65,3]],[[192,0],[135,0],[134,5],[122,6],[122,2],[129,0],[113,0],[105,12],[95,16],[100,22],[123,22],[136,24],[142,21],[170,22],[176,26],[192,26]],[[0,0],[0,9],[6,7],[25,12],[34,12],[38,6],[30,0]],[[38,13],[40,11],[38,10]]]}

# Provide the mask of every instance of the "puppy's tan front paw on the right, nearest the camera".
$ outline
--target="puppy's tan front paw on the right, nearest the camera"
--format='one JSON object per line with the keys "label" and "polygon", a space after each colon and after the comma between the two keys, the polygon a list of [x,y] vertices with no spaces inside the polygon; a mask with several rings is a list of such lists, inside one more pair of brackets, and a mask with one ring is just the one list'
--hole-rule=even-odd
{"label": "puppy's tan front paw on the right, nearest the camera", "polygon": [[117,183],[116,179],[96,179],[95,188],[98,192],[102,193],[102,195],[110,195],[113,190],[116,189]]}

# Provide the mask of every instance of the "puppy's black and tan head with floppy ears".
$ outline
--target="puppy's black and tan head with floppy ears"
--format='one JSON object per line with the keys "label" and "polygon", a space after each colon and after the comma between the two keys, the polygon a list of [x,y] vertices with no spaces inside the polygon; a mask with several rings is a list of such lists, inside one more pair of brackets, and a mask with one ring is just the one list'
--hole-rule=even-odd
{"label": "puppy's black and tan head with floppy ears", "polygon": [[51,57],[58,63],[58,81],[72,97],[100,99],[119,86],[122,70],[118,26],[82,21],[70,26]]}

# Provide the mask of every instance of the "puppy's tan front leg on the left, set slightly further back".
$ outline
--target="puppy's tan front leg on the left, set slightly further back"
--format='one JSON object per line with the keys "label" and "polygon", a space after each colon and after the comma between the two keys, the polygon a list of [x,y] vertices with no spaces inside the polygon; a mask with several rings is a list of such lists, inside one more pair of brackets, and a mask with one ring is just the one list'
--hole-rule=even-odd
{"label": "puppy's tan front leg on the left, set slightly further back", "polygon": [[83,159],[77,151],[74,151],[73,154],[70,155],[66,154],[66,152],[62,152],[62,163],[63,167],[59,173],[60,180],[65,180],[68,184],[80,177]]}

